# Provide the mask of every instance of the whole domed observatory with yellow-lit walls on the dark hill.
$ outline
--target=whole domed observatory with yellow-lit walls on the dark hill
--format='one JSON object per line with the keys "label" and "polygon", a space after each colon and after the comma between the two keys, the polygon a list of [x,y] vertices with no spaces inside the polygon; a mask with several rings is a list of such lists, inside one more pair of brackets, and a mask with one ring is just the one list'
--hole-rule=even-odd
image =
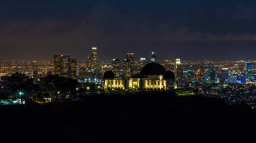
{"label": "whole domed observatory with yellow-lit walls on the dark hill", "polygon": [[146,64],[140,74],[134,75],[127,80],[116,80],[112,71],[104,73],[105,90],[142,89],[142,90],[174,90],[175,76],[172,71],[157,63]]}

